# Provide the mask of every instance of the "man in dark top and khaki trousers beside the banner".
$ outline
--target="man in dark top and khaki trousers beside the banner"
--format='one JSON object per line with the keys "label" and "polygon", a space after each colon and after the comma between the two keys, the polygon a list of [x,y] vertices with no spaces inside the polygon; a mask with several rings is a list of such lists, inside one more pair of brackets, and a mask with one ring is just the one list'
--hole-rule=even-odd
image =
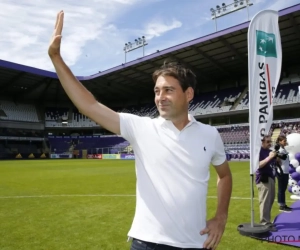
{"label": "man in dark top and khaki trousers beside the banner", "polygon": [[275,200],[275,171],[277,152],[272,151],[270,136],[264,136],[259,153],[259,168],[256,171],[256,186],[258,189],[260,223],[268,225],[270,231],[277,231],[271,222],[271,210]]}

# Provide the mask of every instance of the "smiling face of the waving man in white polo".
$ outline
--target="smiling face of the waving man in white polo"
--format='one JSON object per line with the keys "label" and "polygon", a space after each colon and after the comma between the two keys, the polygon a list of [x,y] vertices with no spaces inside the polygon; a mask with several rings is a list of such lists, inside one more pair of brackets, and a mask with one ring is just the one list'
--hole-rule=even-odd
{"label": "smiling face of the waving man in white polo", "polygon": [[167,120],[176,119],[186,113],[194,95],[192,88],[183,92],[179,81],[171,76],[159,76],[154,93],[159,114]]}

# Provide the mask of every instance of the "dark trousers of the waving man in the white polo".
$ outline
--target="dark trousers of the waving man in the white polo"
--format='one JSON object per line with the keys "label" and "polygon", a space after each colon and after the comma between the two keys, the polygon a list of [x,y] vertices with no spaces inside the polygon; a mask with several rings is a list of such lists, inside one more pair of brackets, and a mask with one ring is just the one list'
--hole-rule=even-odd
{"label": "dark trousers of the waving man in the white polo", "polygon": [[133,239],[130,250],[205,250],[205,248],[179,248]]}

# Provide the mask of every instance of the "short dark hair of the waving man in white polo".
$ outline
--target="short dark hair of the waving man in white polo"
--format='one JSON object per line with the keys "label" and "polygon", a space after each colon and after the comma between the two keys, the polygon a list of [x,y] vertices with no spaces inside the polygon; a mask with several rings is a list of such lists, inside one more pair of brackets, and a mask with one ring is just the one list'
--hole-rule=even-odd
{"label": "short dark hair of the waving man in white polo", "polygon": [[179,84],[185,92],[189,87],[193,90],[196,88],[196,75],[191,69],[186,67],[184,63],[178,60],[168,59],[164,61],[164,64],[154,71],[152,79],[154,83],[159,76],[172,76],[179,81]]}

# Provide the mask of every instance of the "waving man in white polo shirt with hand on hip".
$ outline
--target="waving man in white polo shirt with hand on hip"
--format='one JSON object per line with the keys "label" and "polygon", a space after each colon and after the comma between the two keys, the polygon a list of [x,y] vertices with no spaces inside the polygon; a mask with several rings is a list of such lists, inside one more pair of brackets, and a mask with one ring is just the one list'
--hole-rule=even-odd
{"label": "waving man in white polo shirt with hand on hip", "polygon": [[[60,54],[64,13],[57,15],[48,54],[67,95],[81,113],[123,136],[135,152],[136,211],[128,236],[132,250],[215,249],[223,235],[232,190],[218,131],[188,114],[193,72],[165,63],[154,72],[160,117],[117,113],[100,104],[75,78]],[[206,219],[210,163],[218,174],[218,205]]]}

